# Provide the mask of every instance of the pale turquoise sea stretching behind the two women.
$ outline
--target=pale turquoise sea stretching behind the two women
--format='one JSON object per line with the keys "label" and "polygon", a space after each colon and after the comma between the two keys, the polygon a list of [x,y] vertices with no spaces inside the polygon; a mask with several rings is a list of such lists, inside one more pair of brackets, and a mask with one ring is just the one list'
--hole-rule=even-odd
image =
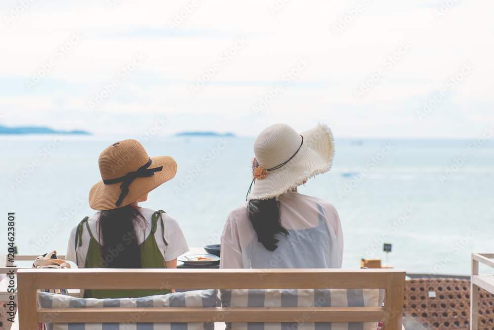
{"label": "pale turquoise sea stretching behind the two women", "polygon": [[[169,155],[178,164],[175,178],[141,206],[176,218],[191,247],[219,243],[228,213],[245,203],[254,138],[2,135],[5,251],[7,213],[15,213],[19,254],[65,254],[72,228],[95,212],[88,193],[101,178],[99,154],[128,138],[139,140],[150,156]],[[469,275],[471,253],[494,252],[489,137],[336,139],[335,150],[331,171],[298,191],[336,207],[344,234],[343,268],[376,258],[409,273]],[[390,252],[383,251],[385,243]]]}

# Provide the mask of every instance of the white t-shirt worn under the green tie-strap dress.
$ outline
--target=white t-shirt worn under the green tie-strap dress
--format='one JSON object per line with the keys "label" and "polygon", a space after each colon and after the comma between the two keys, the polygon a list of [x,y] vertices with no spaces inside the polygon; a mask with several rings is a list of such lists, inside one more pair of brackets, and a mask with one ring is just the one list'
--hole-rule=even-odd
{"label": "white t-shirt worn under the green tie-strap dress", "polygon": [[[139,212],[141,212],[144,219],[147,220],[145,232],[141,228],[135,228],[135,235],[137,237],[138,244],[142,243],[150,234],[151,234],[151,218],[155,211],[148,208],[139,208]],[[97,212],[93,216],[87,219],[87,223],[89,224],[89,228],[91,229],[91,233],[94,238],[101,242],[101,237],[98,237],[98,228],[99,228],[99,214]],[[82,219],[81,219],[82,220]],[[158,244],[158,247],[165,258],[165,261],[171,261],[178,256],[184,254],[189,251],[189,246],[187,245],[187,241],[185,240],[185,236],[178,225],[178,221],[175,218],[169,216],[166,213],[163,213],[163,224],[165,225],[165,239],[168,245],[165,245],[165,240],[163,239],[163,229],[161,226],[161,220],[158,219],[157,229],[155,232],[155,240]],[[69,238],[69,245],[67,246],[67,254],[66,259],[76,262],[76,250],[75,250],[75,238],[76,238],[77,225],[72,229]],[[84,225],[82,230],[82,246],[77,247],[77,257],[79,259],[79,267],[84,267],[84,263],[86,261],[86,254],[89,248],[89,239],[91,236],[87,232],[87,228]]]}

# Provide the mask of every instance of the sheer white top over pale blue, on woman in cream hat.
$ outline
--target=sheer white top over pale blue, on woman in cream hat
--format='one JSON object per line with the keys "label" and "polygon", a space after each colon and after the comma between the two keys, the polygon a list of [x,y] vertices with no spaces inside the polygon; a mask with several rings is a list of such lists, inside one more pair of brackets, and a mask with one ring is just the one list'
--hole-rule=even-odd
{"label": "sheer white top over pale blue, on woman in cream hat", "polygon": [[278,197],[281,224],[278,248],[267,250],[247,217],[247,203],[228,215],[221,235],[220,268],[341,268],[343,232],[334,206],[289,191]]}

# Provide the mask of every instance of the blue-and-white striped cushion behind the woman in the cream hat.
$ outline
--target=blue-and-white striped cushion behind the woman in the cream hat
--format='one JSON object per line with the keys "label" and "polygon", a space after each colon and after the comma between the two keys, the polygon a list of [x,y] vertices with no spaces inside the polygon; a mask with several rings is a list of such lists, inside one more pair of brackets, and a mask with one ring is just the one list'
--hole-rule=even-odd
{"label": "blue-and-white striped cushion behind the woman in the cream hat", "polygon": [[[384,290],[379,289],[233,289],[220,290],[223,307],[380,307]],[[375,322],[226,323],[233,330],[375,330]]]}

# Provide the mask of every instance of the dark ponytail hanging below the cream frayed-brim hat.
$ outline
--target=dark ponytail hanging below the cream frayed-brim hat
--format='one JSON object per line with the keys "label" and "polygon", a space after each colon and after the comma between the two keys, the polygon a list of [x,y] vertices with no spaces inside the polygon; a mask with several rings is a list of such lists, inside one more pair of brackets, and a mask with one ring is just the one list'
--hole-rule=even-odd
{"label": "dark ponytail hanging below the cream frayed-brim hat", "polygon": [[279,239],[275,238],[276,234],[288,235],[281,224],[280,209],[275,198],[249,200],[247,217],[257,234],[257,240],[269,251],[278,247]]}

